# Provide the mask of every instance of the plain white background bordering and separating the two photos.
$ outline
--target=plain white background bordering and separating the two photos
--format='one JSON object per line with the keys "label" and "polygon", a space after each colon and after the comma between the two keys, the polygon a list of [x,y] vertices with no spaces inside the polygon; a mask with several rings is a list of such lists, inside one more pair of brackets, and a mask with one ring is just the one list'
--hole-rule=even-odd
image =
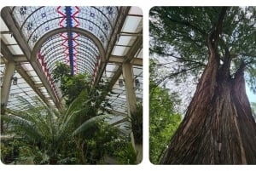
{"label": "plain white background bordering and separating the two photos", "polygon": [[[1,0],[1,9],[4,6],[33,6],[33,5],[78,5],[78,6],[138,6],[143,10],[143,162],[138,165],[78,165],[78,166],[67,166],[67,165],[58,165],[58,166],[8,166],[3,165],[0,162],[0,169],[2,170],[20,170],[20,171],[39,171],[39,170],[58,170],[58,171],[78,171],[78,170],[119,170],[119,171],[137,171],[137,170],[147,170],[147,171],[180,171],[180,170],[196,170],[196,171],[248,171],[248,170],[256,170],[256,166],[191,166],[191,165],[153,165],[149,162],[148,157],[148,13],[149,9],[154,6],[256,6],[256,0]],[[255,142],[256,145],[256,142]]]}

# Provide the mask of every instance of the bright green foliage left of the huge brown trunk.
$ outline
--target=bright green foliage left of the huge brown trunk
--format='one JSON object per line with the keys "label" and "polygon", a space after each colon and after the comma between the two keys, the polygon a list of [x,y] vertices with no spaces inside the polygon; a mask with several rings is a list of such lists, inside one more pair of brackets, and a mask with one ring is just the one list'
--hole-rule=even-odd
{"label": "bright green foliage left of the huge brown trunk", "polygon": [[[154,61],[151,60],[151,64]],[[150,66],[150,74],[154,67]],[[153,77],[149,82],[149,159],[152,163],[159,163],[163,151],[170,142],[182,117],[174,110],[178,104],[177,95],[169,94],[168,89],[156,86]]]}

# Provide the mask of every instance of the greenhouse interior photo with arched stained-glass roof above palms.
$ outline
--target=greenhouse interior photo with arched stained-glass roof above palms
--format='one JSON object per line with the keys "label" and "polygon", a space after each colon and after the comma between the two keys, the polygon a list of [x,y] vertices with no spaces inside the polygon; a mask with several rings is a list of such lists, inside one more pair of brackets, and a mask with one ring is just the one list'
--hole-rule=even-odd
{"label": "greenhouse interior photo with arched stained-glass roof above palms", "polygon": [[143,12],[1,9],[3,164],[143,159]]}

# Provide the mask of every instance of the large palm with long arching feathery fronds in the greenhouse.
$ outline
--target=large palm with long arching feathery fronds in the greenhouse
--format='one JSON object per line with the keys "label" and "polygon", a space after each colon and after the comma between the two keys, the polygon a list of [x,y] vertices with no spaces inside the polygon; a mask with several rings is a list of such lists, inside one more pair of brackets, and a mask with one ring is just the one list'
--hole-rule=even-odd
{"label": "large palm with long arching feathery fronds in the greenhouse", "polygon": [[[8,110],[9,114],[4,115],[2,119],[12,126],[9,132],[14,132],[32,145],[37,145],[39,150],[47,151],[49,163],[56,164],[61,151],[68,150],[70,143],[76,144],[77,147],[83,146],[84,135],[93,134],[96,122],[106,117],[102,114],[96,115],[96,112],[91,113],[93,110],[90,100],[84,101],[83,98],[84,93],[81,93],[64,111],[44,105],[38,99],[40,105],[24,111]],[[87,131],[89,129],[90,131]],[[85,163],[83,150],[79,151],[79,156],[80,162]]]}

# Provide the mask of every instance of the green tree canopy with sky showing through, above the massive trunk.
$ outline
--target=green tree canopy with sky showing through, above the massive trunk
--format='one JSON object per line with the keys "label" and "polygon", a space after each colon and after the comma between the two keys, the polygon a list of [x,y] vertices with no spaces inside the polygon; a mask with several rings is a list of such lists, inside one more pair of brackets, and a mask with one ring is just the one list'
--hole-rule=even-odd
{"label": "green tree canopy with sky showing through, above the massive trunk", "polygon": [[[168,57],[172,71],[156,80],[195,77],[207,65],[207,35],[215,29],[221,7],[154,7],[150,10],[150,53]],[[256,92],[256,8],[229,7],[218,41],[221,66],[230,56],[230,77],[246,65],[247,83]],[[165,65],[165,64],[162,64]],[[179,76],[179,77],[177,77]]]}

